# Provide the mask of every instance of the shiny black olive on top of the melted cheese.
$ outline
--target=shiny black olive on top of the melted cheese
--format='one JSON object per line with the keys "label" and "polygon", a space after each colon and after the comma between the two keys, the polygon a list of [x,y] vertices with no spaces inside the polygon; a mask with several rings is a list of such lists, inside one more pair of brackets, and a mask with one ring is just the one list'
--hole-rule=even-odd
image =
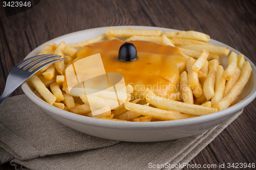
{"label": "shiny black olive on top of the melted cheese", "polygon": [[119,48],[118,59],[120,61],[135,61],[137,60],[137,50],[134,44],[125,42]]}

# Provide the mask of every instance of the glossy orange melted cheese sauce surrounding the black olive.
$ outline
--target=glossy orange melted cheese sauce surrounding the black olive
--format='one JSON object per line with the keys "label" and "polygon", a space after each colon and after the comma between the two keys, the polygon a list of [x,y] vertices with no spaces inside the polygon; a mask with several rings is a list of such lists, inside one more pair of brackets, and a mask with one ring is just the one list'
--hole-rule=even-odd
{"label": "glossy orange melted cheese sauce surrounding the black olive", "polygon": [[137,48],[138,58],[135,61],[118,60],[118,51],[124,42],[106,40],[82,47],[73,62],[100,53],[105,71],[121,73],[125,84],[135,88],[136,99],[146,88],[166,98],[175,93],[186,65],[181,51],[177,47],[148,41],[130,42]]}

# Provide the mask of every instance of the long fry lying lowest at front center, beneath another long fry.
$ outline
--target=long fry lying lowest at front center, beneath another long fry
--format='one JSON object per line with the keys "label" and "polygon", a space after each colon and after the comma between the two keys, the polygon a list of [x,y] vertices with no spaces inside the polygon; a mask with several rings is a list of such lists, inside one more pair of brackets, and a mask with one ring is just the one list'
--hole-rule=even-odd
{"label": "long fry lying lowest at front center, beneath another long fry", "polygon": [[133,112],[139,113],[144,116],[152,116],[152,117],[160,118],[163,120],[177,120],[177,119],[193,117],[193,116],[182,114],[176,111],[166,111],[166,110],[157,109],[150,106],[134,104],[130,102],[125,102],[124,106],[127,110],[131,110]]}

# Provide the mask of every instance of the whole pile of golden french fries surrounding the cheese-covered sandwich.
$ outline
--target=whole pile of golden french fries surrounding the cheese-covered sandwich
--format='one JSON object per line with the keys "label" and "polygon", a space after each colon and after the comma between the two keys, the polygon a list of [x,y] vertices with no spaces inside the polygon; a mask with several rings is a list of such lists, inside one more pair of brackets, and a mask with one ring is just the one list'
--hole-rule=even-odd
{"label": "whole pile of golden french fries surrounding the cheese-covered sandwich", "polygon": [[[138,104],[140,99],[131,101],[134,89],[126,86],[127,100],[111,111],[93,116],[86,96],[69,94],[65,69],[76,59],[77,51],[84,45],[103,40],[127,37],[124,41],[143,40],[175,46],[186,59],[186,70],[180,75],[179,89],[182,100],[172,100],[154,94],[146,89],[143,95],[146,104]],[[209,44],[208,35],[196,31],[164,32],[160,30],[108,29],[106,34],[79,43],[46,45],[39,54],[57,54],[65,61],[58,61],[42,68],[28,82],[36,94],[44,101],[59,109],[72,113],[106,120],[131,122],[156,122],[176,120],[206,115],[228,108],[234,104],[248,82],[251,66],[243,55],[231,52],[228,66],[220,65],[219,58],[229,54],[229,48]],[[99,96],[97,103],[108,96]]]}

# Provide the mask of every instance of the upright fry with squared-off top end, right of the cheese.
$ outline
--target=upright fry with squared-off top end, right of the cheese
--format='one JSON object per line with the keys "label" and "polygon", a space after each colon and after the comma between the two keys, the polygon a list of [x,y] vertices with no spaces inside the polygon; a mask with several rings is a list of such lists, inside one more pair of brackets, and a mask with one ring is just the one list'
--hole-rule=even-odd
{"label": "upright fry with squared-off top end, right of the cheese", "polygon": [[216,81],[218,60],[209,61],[209,73],[204,81],[203,92],[207,100],[210,100],[214,96],[214,87]]}

